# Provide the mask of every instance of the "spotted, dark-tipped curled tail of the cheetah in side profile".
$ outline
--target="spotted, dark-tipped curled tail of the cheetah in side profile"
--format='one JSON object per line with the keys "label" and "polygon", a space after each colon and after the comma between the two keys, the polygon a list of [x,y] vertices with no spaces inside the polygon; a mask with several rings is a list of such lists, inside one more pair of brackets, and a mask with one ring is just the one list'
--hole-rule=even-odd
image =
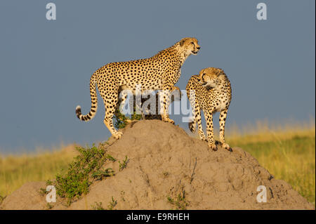
{"label": "spotted, dark-tipped curled tail of the cheetah in side profile", "polygon": [[81,121],[90,121],[93,119],[93,117],[96,115],[96,112],[98,110],[98,97],[96,93],[96,75],[93,74],[90,79],[90,95],[91,95],[91,109],[90,112],[86,115],[81,114],[81,107],[78,105],[76,107],[76,114],[77,117]]}

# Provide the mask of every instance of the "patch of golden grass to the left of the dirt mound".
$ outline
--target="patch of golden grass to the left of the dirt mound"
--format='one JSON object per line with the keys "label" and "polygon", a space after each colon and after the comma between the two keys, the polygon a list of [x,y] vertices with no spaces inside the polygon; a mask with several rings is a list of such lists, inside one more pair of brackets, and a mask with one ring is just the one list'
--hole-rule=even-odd
{"label": "patch of golden grass to the left of the dirt mound", "polygon": [[67,169],[72,161],[74,146],[62,146],[60,150],[39,150],[34,154],[0,155],[0,196],[11,194],[30,181],[55,178],[61,169]]}

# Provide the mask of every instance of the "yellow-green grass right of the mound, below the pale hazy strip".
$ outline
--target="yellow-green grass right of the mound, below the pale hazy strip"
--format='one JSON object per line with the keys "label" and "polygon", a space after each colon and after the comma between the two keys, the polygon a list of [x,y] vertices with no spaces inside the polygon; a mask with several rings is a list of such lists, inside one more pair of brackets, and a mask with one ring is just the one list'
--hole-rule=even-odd
{"label": "yellow-green grass right of the mound, below the pale hazy strip", "polygon": [[315,130],[289,138],[282,135],[281,140],[277,135],[271,140],[259,138],[257,143],[254,136],[228,138],[228,143],[252,154],[275,178],[287,181],[315,204]]}

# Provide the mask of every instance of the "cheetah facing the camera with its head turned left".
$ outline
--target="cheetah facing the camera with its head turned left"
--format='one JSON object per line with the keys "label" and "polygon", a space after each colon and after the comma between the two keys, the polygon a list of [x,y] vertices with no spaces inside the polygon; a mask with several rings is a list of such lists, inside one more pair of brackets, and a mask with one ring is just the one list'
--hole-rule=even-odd
{"label": "cheetah facing the camera with its head turned left", "polygon": [[[193,119],[189,123],[190,131],[195,132],[195,126],[199,127],[199,138],[208,141],[209,148],[217,150],[213,136],[213,114],[220,112],[220,143],[226,150],[230,146],[225,143],[225,120],[228,107],[232,98],[232,88],[230,81],[223,70],[215,67],[208,67],[193,75],[186,86],[187,98],[192,106]],[[203,110],[206,120],[207,140],[204,136],[201,123],[201,112]]]}

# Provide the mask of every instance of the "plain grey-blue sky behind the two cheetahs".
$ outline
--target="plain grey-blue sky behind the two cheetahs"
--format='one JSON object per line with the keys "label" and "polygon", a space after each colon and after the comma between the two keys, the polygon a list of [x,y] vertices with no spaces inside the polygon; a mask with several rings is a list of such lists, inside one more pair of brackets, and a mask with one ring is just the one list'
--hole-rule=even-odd
{"label": "plain grey-blue sky behind the two cheetahs", "polygon": [[[46,20],[53,2],[57,20]],[[265,2],[268,20],[257,20]],[[227,125],[315,117],[315,1],[0,1],[0,152],[106,140],[104,106],[90,108],[91,74],[148,58],[183,37],[201,45],[182,67],[185,88],[204,67],[232,83]],[[177,124],[180,115],[171,115]],[[217,123],[217,117],[214,119]]]}

